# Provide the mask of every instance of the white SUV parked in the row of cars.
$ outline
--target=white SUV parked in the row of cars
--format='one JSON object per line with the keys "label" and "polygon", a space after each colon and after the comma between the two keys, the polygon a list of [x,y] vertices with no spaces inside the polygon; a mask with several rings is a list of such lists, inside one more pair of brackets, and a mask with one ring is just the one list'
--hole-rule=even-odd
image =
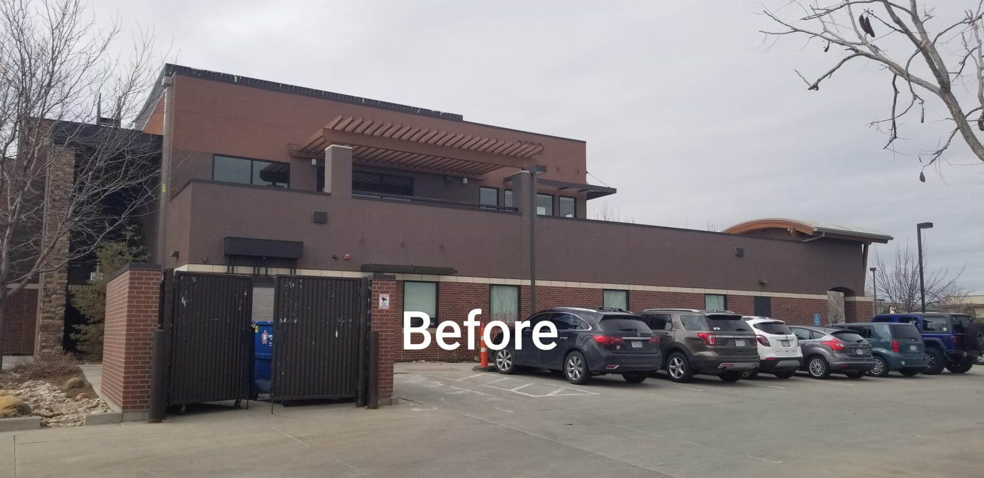
{"label": "white SUV parked in the row of cars", "polygon": [[803,364],[799,341],[786,323],[769,317],[743,317],[755,331],[759,342],[759,368],[745,373],[743,379],[754,379],[759,372],[788,379]]}

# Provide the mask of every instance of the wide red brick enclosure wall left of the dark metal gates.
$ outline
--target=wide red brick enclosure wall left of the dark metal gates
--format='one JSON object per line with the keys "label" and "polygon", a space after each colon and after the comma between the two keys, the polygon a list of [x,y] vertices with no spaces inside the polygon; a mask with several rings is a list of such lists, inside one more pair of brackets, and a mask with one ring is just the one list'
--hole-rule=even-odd
{"label": "wide red brick enclosure wall left of the dark metal gates", "polygon": [[124,266],[106,283],[101,392],[110,406],[133,419],[146,415],[150,405],[159,298],[160,267],[152,264]]}

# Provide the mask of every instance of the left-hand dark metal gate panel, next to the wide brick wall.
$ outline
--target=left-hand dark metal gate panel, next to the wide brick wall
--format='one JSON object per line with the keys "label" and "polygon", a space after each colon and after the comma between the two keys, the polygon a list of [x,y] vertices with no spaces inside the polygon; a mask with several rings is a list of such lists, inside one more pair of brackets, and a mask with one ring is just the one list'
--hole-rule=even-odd
{"label": "left-hand dark metal gate panel, next to the wide brick wall", "polygon": [[170,337],[167,404],[248,399],[252,278],[176,272],[165,274],[163,287],[161,328]]}

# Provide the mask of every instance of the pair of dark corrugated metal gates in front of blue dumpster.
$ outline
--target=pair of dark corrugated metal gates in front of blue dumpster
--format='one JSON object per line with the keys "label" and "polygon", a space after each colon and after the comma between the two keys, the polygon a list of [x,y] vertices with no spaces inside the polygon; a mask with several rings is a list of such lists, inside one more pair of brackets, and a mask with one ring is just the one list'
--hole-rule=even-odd
{"label": "pair of dark corrugated metal gates in front of blue dumpster", "polygon": [[[253,286],[249,275],[164,274],[166,353],[154,361],[165,404],[250,398]],[[277,275],[272,400],[364,396],[367,294],[366,279]]]}

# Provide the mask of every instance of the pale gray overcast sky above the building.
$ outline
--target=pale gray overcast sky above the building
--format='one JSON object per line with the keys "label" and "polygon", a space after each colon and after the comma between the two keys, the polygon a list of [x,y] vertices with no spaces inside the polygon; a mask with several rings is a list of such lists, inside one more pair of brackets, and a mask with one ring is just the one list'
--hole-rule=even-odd
{"label": "pale gray overcast sky above the building", "polygon": [[[623,219],[856,225],[895,237],[884,257],[932,221],[931,265],[984,293],[984,164],[953,148],[920,183],[916,157],[866,127],[886,118],[891,78],[859,61],[806,90],[793,69],[818,76],[839,53],[763,44],[761,2],[92,1],[100,21],[153,27],[175,63],[584,140]],[[899,149],[939,142],[945,125],[917,121]]]}

